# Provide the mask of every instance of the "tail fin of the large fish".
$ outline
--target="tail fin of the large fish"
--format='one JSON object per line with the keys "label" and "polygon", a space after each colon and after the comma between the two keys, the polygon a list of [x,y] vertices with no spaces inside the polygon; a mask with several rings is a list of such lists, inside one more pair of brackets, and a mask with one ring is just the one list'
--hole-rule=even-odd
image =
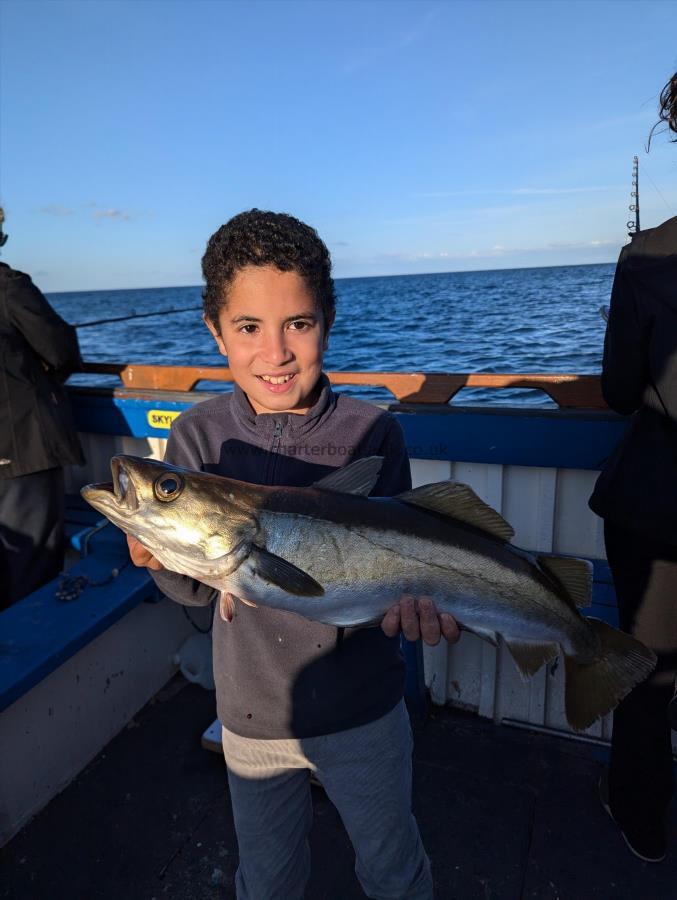
{"label": "tail fin of the large fish", "polygon": [[615,709],[656,666],[656,655],[632,635],[600,619],[587,619],[600,641],[600,653],[591,663],[565,657],[565,708],[569,724],[584,731]]}

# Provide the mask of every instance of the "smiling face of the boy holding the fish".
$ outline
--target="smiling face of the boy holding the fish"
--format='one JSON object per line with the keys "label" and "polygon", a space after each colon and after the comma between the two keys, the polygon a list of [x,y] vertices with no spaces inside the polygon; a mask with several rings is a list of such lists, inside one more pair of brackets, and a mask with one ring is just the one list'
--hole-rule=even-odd
{"label": "smiling face of the boy holding the fish", "polygon": [[256,413],[310,409],[326,335],[322,312],[301,275],[247,266],[228,290],[219,330],[205,322]]}

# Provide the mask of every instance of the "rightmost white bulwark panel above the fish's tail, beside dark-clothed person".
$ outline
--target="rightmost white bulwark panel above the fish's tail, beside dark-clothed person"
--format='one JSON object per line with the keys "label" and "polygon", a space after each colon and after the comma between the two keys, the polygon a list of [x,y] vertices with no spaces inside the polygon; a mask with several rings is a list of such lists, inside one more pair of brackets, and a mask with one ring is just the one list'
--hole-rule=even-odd
{"label": "rightmost white bulwark panel above the fish's tail, beside dark-clothed person", "polygon": [[598,472],[559,469],[553,550],[604,559],[604,523],[588,506]]}

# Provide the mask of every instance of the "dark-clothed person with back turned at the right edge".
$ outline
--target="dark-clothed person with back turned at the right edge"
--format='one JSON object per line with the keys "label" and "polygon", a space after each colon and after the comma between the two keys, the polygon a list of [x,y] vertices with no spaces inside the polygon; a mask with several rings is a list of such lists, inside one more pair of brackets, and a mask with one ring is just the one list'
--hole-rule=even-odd
{"label": "dark-clothed person with back turned at the right edge", "polygon": [[[660,116],[677,133],[677,73],[661,93]],[[677,669],[677,218],[635,234],[621,251],[602,391],[632,419],[590,506],[604,518],[620,626],[651,647],[658,664],[614,713],[600,786],[630,850],[659,862],[673,792],[667,710]]]}

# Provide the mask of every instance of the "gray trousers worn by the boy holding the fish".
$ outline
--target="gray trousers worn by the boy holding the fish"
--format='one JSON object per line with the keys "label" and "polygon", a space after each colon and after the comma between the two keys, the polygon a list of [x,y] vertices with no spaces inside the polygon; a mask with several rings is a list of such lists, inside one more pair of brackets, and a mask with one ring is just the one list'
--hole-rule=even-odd
{"label": "gray trousers worn by the boy holding the fish", "polygon": [[309,770],[339,811],[368,897],[431,900],[430,863],[411,812],[412,738],[404,702],[359,728],[254,740],[223,729],[240,850],[237,900],[301,900],[310,872]]}

